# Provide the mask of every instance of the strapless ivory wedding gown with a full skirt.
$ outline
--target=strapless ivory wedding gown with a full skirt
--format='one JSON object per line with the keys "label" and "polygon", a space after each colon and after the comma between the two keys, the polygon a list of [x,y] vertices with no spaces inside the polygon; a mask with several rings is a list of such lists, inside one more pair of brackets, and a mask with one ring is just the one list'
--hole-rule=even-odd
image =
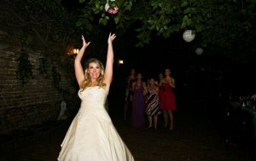
{"label": "strapless ivory wedding gown with a full skirt", "polygon": [[104,104],[108,91],[79,90],[81,106],[61,143],[60,161],[133,161]]}

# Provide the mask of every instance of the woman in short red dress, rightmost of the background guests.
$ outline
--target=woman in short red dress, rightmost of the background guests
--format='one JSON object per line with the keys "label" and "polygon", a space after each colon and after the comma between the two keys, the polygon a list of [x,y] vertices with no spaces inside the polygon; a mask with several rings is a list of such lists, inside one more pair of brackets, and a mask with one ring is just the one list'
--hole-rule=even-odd
{"label": "woman in short red dress, rightmost of the background guests", "polygon": [[171,77],[171,70],[166,69],[165,78],[160,81],[160,108],[164,112],[165,128],[170,122],[170,129],[173,129],[172,111],[177,109],[176,98],[172,89],[175,89],[175,80]]}

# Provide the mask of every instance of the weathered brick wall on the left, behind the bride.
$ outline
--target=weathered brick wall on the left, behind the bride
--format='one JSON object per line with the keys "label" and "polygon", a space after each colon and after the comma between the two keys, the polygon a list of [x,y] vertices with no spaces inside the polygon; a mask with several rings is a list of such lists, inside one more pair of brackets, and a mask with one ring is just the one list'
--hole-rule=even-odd
{"label": "weathered brick wall on the left, behind the bride", "polygon": [[[20,80],[16,77],[21,49],[20,42],[17,37],[10,37],[9,33],[4,31],[4,27],[0,27],[0,126],[3,125],[4,112],[9,108],[40,103],[49,103],[55,106],[55,102],[62,98],[61,92],[53,85],[51,69],[54,62],[49,61],[47,66],[49,77],[45,78],[38,72],[41,51],[22,46],[22,49],[24,48],[28,51],[29,60],[32,63],[33,78],[22,86]],[[63,53],[63,55],[65,54]],[[61,74],[61,89],[70,92],[69,99],[76,100],[77,95],[73,88],[72,79],[67,76],[67,72],[61,66],[58,66],[57,63],[55,63],[55,66],[57,72]]]}

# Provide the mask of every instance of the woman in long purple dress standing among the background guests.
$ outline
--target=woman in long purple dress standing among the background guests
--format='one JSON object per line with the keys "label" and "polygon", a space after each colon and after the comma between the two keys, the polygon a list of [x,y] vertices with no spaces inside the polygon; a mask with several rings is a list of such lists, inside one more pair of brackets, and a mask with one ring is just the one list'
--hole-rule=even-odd
{"label": "woman in long purple dress standing among the background guests", "polygon": [[142,80],[143,75],[137,73],[137,81],[132,83],[133,100],[131,110],[131,126],[134,128],[143,128],[145,119],[145,101],[143,91],[146,89],[146,83]]}

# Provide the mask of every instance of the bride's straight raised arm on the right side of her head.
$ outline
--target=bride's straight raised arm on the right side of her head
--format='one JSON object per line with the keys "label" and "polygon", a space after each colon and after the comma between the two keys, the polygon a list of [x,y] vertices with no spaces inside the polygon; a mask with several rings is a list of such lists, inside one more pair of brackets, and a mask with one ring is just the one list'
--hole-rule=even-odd
{"label": "bride's straight raised arm on the right side of her head", "polygon": [[109,33],[108,36],[108,54],[107,54],[107,62],[105,67],[105,75],[104,75],[104,83],[107,83],[108,87],[112,82],[113,77],[113,40],[115,38],[115,34]]}

